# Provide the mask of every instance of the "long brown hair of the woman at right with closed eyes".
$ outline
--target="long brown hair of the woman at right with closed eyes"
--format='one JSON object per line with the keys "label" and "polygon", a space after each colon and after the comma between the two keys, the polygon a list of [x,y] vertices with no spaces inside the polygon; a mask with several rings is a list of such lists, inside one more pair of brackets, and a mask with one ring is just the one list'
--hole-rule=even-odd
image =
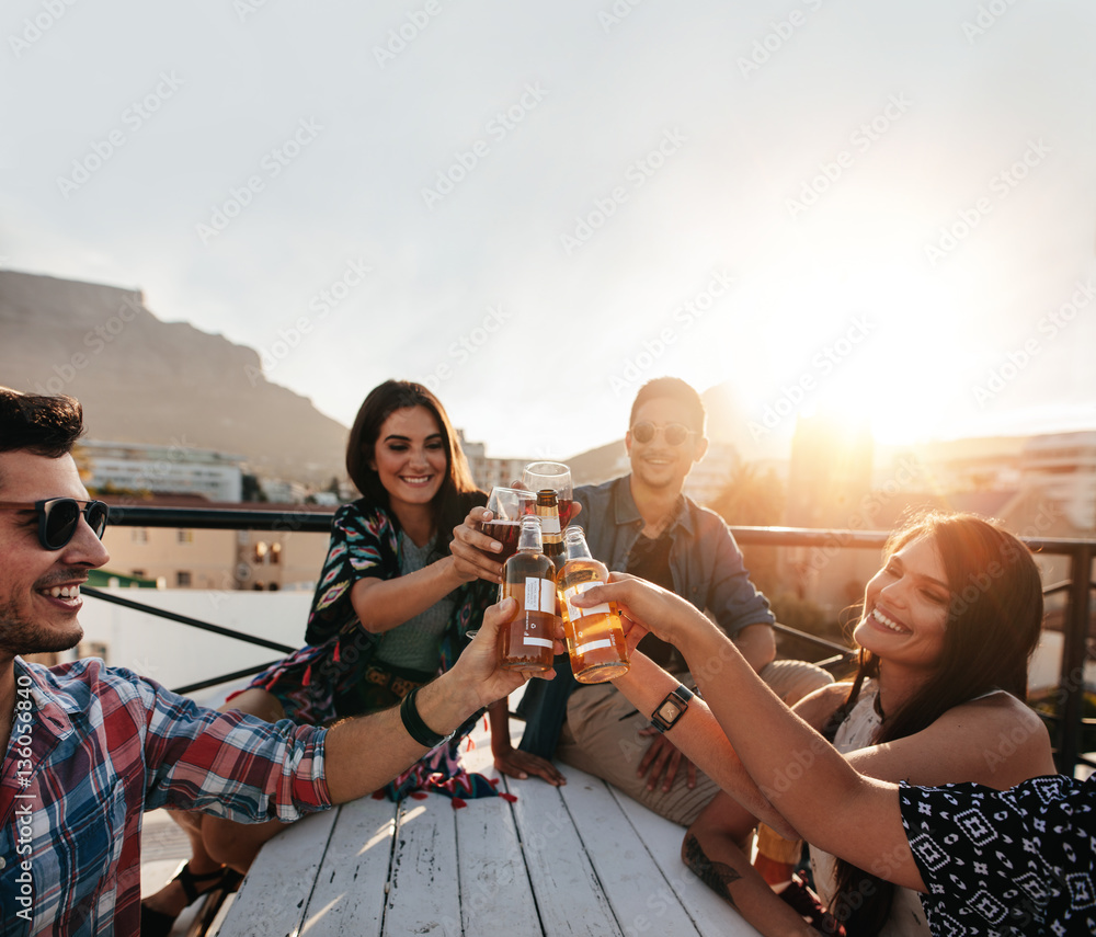
{"label": "long brown hair of the woman at right with closed eyes", "polygon": [[[1042,628],[1042,583],[1031,551],[996,522],[931,512],[891,535],[884,562],[920,537],[929,538],[939,551],[951,593],[944,645],[928,679],[898,711],[886,713],[874,744],[920,732],[949,709],[995,689],[1027,697],[1028,662]],[[860,648],[838,719],[856,702],[864,679],[878,674],[879,659]],[[849,937],[878,934],[890,914],[894,887],[840,859],[836,885],[831,910],[845,921]]]}

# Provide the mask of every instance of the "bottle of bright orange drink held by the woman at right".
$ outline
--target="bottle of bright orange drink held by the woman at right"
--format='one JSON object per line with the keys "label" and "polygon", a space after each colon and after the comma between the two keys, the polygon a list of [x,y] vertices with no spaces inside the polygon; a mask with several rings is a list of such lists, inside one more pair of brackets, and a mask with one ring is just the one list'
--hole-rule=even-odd
{"label": "bottle of bright orange drink held by the woman at right", "polygon": [[628,672],[628,648],[616,605],[603,602],[590,608],[571,604],[576,595],[608,581],[605,563],[595,560],[581,527],[563,533],[566,562],[556,576],[563,606],[563,633],[571,670],[579,683],[602,683]]}

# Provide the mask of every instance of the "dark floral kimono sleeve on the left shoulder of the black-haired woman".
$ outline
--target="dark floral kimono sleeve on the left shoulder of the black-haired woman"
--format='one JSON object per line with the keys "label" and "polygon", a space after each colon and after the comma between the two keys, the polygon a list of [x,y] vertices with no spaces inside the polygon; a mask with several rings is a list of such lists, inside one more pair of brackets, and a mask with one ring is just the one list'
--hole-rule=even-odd
{"label": "dark floral kimono sleeve on the left shoulder of the black-haired woman", "polygon": [[396,528],[380,509],[344,504],[331,522],[331,546],[308,613],[305,640],[321,644],[357,621],[350,594],[359,579],[399,575]]}

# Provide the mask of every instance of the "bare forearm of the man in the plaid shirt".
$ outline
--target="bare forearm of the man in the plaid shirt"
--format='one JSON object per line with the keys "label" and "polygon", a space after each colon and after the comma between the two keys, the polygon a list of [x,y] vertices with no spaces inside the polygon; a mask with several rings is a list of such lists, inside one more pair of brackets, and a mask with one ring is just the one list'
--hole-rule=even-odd
{"label": "bare forearm of the man in the plaid shirt", "polygon": [[[479,699],[452,672],[420,689],[415,702],[423,722],[439,735],[454,731],[480,707]],[[324,746],[332,802],[372,793],[427,751],[403,728],[399,707],[340,722],[328,732]]]}

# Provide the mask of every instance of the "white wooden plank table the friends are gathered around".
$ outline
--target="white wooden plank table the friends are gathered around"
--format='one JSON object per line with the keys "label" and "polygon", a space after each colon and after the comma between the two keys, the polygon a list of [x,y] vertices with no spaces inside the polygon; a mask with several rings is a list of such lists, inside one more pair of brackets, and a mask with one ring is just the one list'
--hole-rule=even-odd
{"label": "white wooden plank table the friends are gathered around", "polygon": [[[516,727],[520,730],[520,724]],[[482,729],[466,761],[489,776]],[[365,798],[267,843],[218,937],[755,935],[681,861],[684,831],[602,780],[500,780],[517,796]]]}

